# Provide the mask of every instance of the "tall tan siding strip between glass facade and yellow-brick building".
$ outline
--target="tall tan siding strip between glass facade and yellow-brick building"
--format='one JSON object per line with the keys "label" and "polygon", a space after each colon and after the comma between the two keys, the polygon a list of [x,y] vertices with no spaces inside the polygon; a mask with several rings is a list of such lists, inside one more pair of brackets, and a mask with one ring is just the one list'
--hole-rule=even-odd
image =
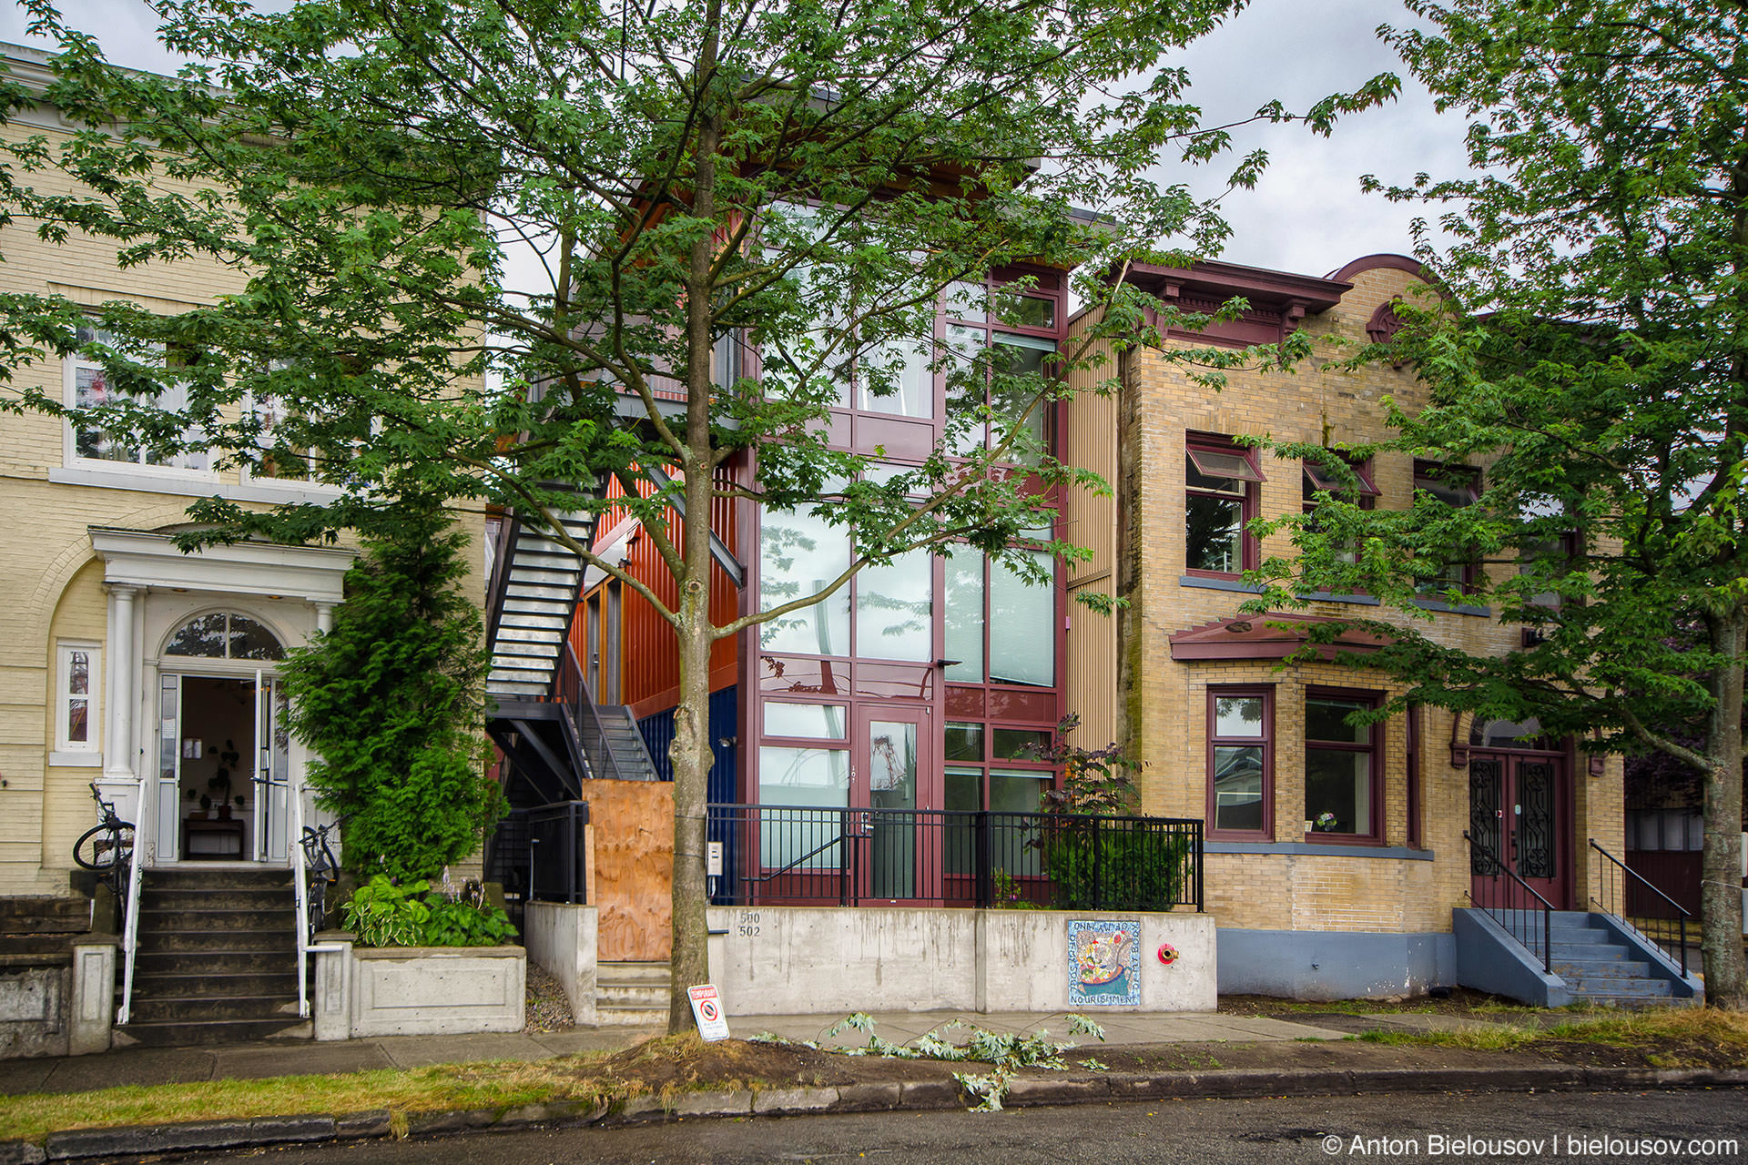
{"label": "tall tan siding strip between glass facade and yellow-brick building", "polygon": [[[1068,323],[1068,342],[1092,321],[1082,313]],[[1101,348],[1108,353],[1108,346]],[[1117,484],[1117,398],[1091,391],[1099,381],[1115,376],[1115,363],[1101,369],[1077,369],[1068,374],[1075,389],[1068,402],[1063,459],[1068,465],[1092,470],[1108,486]],[[1103,748],[1117,739],[1117,618],[1099,615],[1073,596],[1086,592],[1117,592],[1112,569],[1117,561],[1117,501],[1096,498],[1087,489],[1070,489],[1063,501],[1068,541],[1086,547],[1092,559],[1070,568],[1068,578],[1068,711],[1080,716],[1073,742],[1082,748]]]}

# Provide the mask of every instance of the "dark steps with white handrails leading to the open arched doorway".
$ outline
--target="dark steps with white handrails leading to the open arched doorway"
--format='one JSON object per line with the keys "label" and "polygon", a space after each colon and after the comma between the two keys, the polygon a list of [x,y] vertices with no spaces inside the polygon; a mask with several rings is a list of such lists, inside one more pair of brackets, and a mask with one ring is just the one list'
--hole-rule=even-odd
{"label": "dark steps with white handrails leading to the open arched doorway", "polygon": [[149,870],[129,1020],[161,1048],[311,1037],[297,1015],[290,870]]}

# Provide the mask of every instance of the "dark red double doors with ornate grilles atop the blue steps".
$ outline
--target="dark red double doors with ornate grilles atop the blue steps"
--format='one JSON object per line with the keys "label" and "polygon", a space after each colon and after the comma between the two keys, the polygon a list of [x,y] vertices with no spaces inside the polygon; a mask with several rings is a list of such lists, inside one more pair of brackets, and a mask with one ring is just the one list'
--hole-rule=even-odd
{"label": "dark red double doors with ornate grilles atop the blue steps", "polygon": [[1571,908],[1571,765],[1535,721],[1477,720],[1468,735],[1470,896],[1498,893],[1493,854],[1556,910]]}

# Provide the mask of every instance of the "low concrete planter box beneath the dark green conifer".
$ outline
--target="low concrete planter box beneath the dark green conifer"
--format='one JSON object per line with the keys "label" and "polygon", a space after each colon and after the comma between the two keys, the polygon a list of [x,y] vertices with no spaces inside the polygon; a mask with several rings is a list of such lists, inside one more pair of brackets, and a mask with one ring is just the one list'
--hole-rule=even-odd
{"label": "low concrete planter box beneath the dark green conifer", "polygon": [[521,947],[353,947],[343,933],[318,945],[316,1039],[523,1029]]}

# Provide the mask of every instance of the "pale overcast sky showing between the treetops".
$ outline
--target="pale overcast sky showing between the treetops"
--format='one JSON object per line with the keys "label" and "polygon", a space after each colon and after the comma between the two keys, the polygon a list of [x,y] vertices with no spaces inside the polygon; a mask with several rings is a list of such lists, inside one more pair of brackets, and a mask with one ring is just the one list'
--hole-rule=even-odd
{"label": "pale overcast sky showing between the treetops", "polygon": [[[98,37],[112,61],[175,72],[177,61],[154,38],[157,19],[142,0],[63,0],[61,7]],[[0,0],[0,40],[28,44],[24,19],[12,0]],[[1407,21],[1397,0],[1255,0],[1171,63],[1189,68],[1194,100],[1210,122],[1243,117],[1269,98],[1297,110],[1376,73],[1402,73],[1374,35],[1386,21]],[[1463,121],[1435,114],[1432,98],[1411,79],[1404,79],[1398,101],[1346,119],[1332,138],[1299,126],[1238,136],[1239,150],[1267,148],[1271,162],[1255,190],[1225,199],[1232,239],[1222,259],[1301,274],[1325,274],[1374,252],[1409,252],[1414,210],[1362,196],[1360,175],[1405,182],[1419,171],[1444,176],[1463,168]],[[1194,171],[1166,162],[1159,169],[1162,182],[1189,182],[1204,197],[1218,192],[1225,173],[1222,162]]]}

